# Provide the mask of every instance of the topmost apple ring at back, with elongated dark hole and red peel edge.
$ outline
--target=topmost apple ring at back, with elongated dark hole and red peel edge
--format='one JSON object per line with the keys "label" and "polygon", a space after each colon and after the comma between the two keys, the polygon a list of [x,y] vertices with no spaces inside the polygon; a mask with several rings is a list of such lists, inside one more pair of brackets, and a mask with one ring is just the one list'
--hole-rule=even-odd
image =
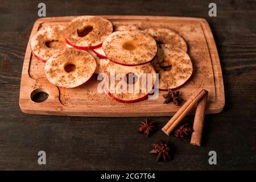
{"label": "topmost apple ring at back, with elongated dark hole and red peel edge", "polygon": [[78,16],[65,29],[65,41],[77,49],[94,49],[112,32],[112,23],[105,18]]}

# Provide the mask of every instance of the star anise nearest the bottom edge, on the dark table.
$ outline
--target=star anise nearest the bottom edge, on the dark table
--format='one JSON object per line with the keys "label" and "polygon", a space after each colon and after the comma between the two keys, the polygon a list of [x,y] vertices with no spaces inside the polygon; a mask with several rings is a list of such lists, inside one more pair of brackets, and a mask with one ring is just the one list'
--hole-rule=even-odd
{"label": "star anise nearest the bottom edge, on the dark table", "polygon": [[158,143],[153,143],[152,146],[155,148],[150,151],[150,154],[156,154],[156,162],[158,162],[161,158],[163,158],[164,161],[170,160],[170,143],[165,142],[163,140],[160,140]]}

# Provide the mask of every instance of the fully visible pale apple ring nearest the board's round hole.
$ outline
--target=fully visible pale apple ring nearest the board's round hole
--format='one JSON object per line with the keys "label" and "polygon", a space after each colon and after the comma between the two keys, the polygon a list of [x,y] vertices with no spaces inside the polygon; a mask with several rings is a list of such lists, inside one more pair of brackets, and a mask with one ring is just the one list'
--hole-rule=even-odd
{"label": "fully visible pale apple ring nearest the board's round hole", "polygon": [[87,51],[75,48],[61,49],[44,65],[49,82],[63,88],[75,88],[92,77],[96,61]]}

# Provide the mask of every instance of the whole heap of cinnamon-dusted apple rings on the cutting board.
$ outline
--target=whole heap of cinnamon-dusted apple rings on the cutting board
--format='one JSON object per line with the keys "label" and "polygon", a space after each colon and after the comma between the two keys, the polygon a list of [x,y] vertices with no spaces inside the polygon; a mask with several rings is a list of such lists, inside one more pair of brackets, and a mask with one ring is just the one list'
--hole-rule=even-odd
{"label": "whole heap of cinnamon-dusted apple rings on the cutting board", "polygon": [[[159,73],[159,89],[165,91],[185,84],[193,71],[187,44],[176,32],[166,28],[142,31],[98,16],[78,16],[67,27],[43,27],[32,36],[30,45],[35,57],[46,62],[44,72],[52,84],[74,88],[88,81],[93,73],[105,73],[109,77],[105,86],[108,95],[124,103],[146,100],[154,86],[155,73]],[[110,88],[113,70],[126,83],[114,90]],[[123,92],[135,88],[143,74],[151,75],[151,80],[143,80],[138,92]],[[144,90],[143,84],[152,86]]]}

